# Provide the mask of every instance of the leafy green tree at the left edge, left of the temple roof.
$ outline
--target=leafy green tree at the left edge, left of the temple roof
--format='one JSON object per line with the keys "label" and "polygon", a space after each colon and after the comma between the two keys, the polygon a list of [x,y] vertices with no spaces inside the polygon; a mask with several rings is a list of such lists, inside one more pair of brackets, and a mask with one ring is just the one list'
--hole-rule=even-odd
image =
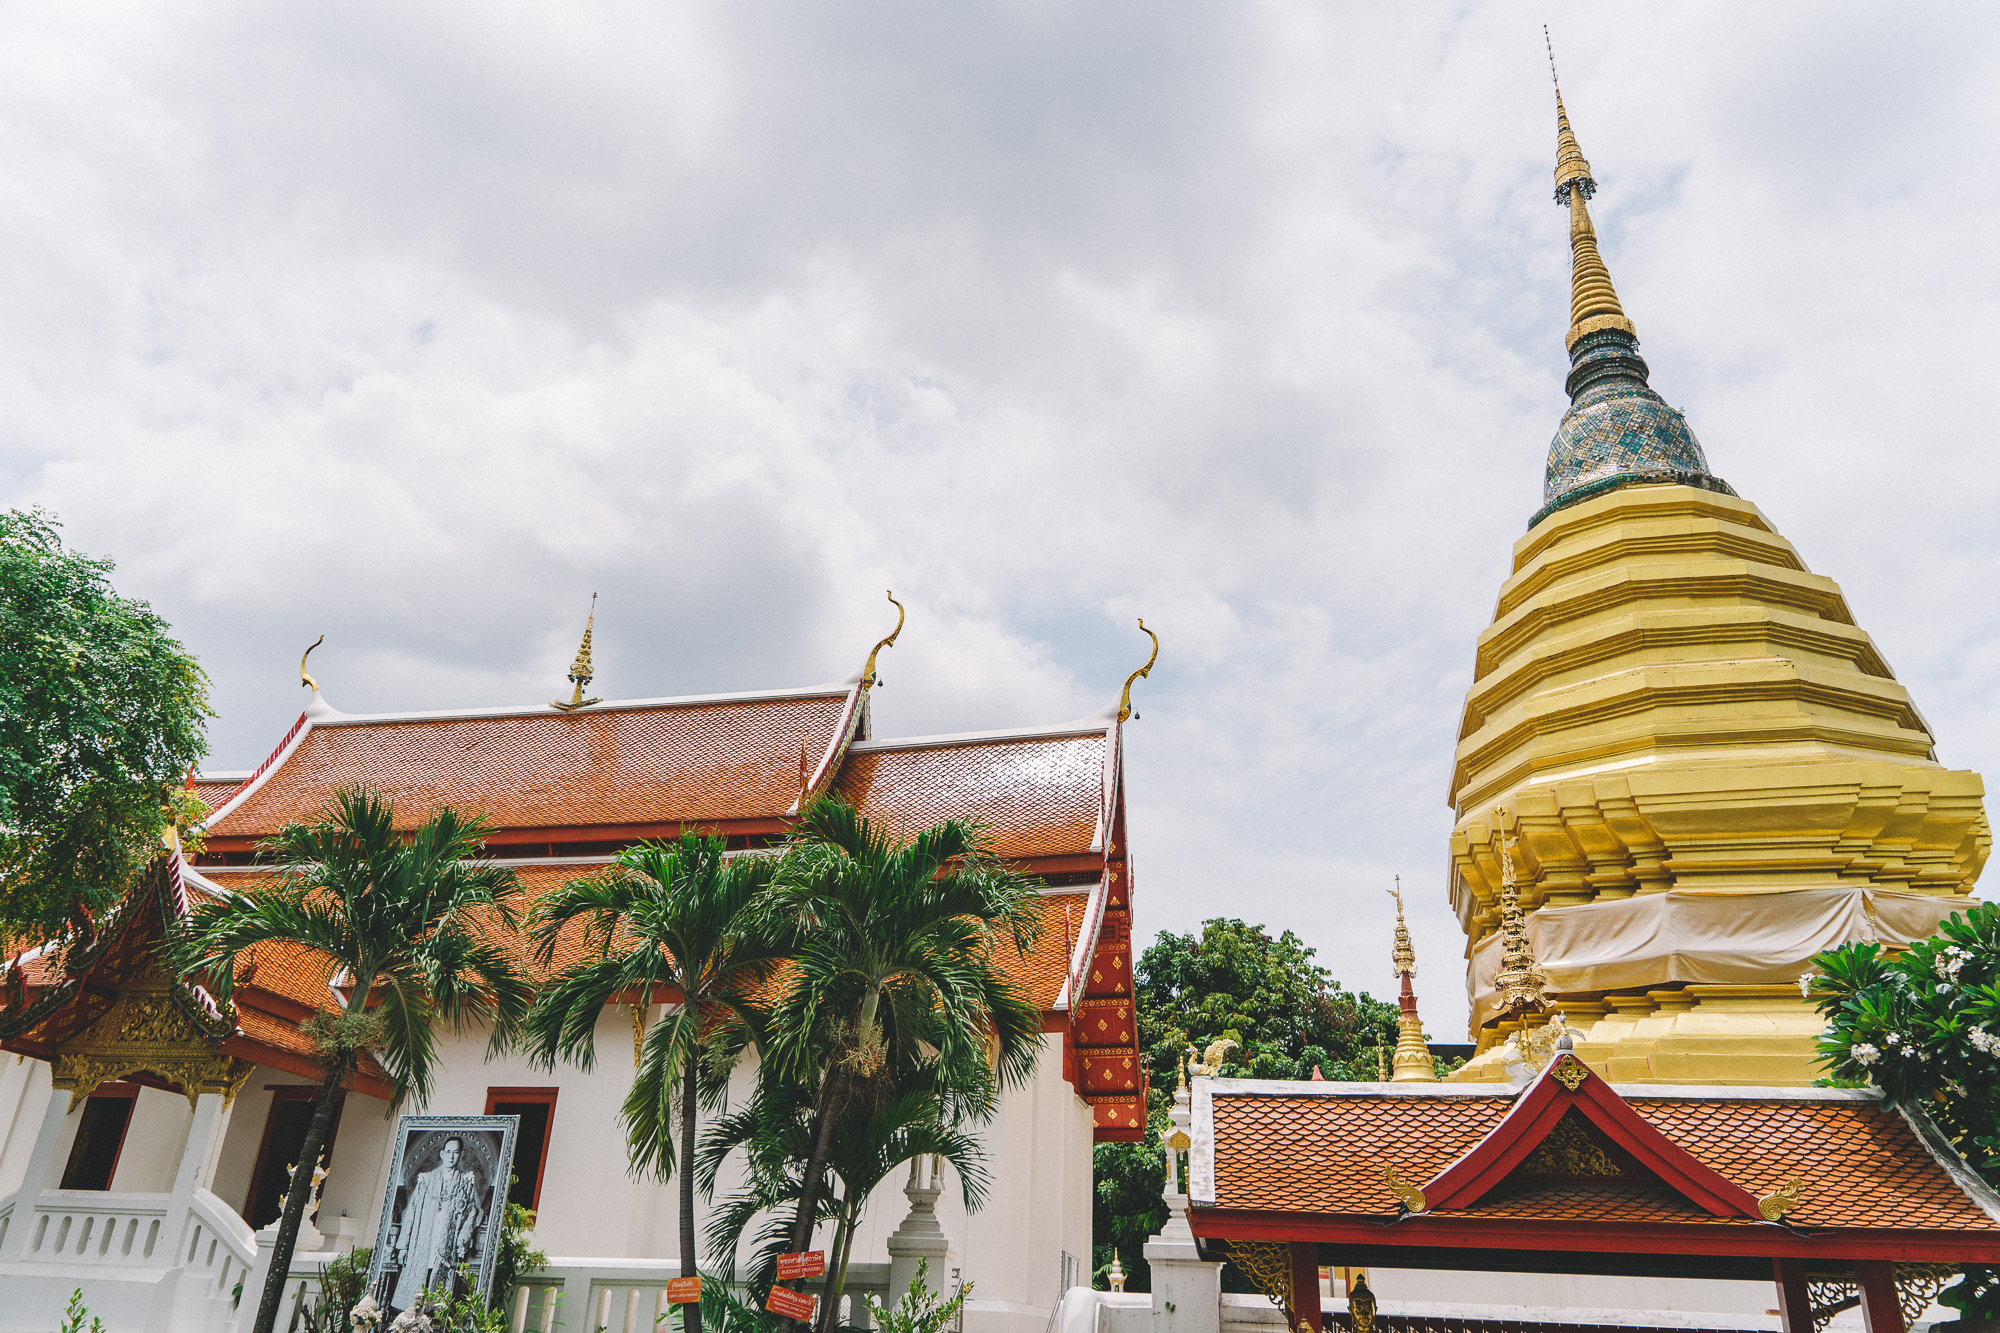
{"label": "leafy green tree at the left edge, left of the temple roof", "polygon": [[88,929],[160,849],[208,751],[208,679],[110,560],[0,514],[0,941]]}

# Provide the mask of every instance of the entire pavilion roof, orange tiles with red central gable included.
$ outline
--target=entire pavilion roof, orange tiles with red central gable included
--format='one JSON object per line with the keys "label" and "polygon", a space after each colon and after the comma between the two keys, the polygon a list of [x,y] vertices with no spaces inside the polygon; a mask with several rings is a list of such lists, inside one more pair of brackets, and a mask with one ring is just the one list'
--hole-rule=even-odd
{"label": "entire pavilion roof, orange tiles with red central gable included", "polygon": [[1194,1117],[1200,1235],[1266,1235],[1258,1219],[1280,1217],[1382,1245],[1670,1227],[1734,1231],[1714,1243],[1736,1253],[1800,1181],[1792,1235],[1926,1231],[2000,1255],[2000,1197],[1928,1117],[1872,1089],[1612,1087],[1558,1057],[1524,1089],[1204,1079]]}

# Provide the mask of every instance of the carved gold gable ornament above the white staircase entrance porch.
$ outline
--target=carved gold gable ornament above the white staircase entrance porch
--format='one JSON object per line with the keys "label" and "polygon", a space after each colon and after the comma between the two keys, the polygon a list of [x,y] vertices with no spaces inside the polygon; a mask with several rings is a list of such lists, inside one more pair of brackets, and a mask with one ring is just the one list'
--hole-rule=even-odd
{"label": "carved gold gable ornament above the white staircase entrance porch", "polygon": [[212,1047],[180,1011],[172,981],[158,967],[146,967],[96,1023],[56,1047],[50,1081],[70,1093],[70,1111],[98,1085],[134,1073],[174,1083],[194,1107],[202,1093],[220,1093],[222,1105],[236,1101],[254,1069]]}

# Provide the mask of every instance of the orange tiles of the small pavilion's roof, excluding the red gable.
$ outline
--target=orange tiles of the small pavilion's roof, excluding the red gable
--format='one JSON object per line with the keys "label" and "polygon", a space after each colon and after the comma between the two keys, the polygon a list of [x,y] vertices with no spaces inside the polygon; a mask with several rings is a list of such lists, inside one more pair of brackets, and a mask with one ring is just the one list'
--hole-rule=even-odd
{"label": "orange tiles of the small pavilion's roof, excluding the red gable", "polygon": [[[1626,1103],[1704,1165],[1768,1195],[1794,1175],[1806,1179],[1786,1221],[1806,1229],[1940,1227],[2000,1233],[2000,1221],[1938,1165],[1910,1123],[1876,1099],[1790,1093],[1784,1097],[1648,1097]],[[1218,1209],[1396,1217],[1382,1179],[1392,1165],[1422,1183],[1470,1151],[1514,1107],[1494,1093],[1268,1093],[1212,1097],[1214,1201]],[[1578,1181],[1502,1185],[1470,1209],[1432,1217],[1570,1221],[1674,1221],[1742,1227],[1750,1219],[1712,1217],[1652,1185]]]}

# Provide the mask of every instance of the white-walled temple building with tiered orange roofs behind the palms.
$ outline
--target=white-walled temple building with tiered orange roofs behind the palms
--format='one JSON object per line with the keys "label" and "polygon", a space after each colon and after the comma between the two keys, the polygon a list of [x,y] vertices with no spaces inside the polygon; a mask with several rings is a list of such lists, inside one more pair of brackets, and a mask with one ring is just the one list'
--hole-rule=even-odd
{"label": "white-walled temple building with tiered orange roofs behind the palms", "polygon": [[[856,1303],[906,1287],[928,1257],[938,1285],[976,1285],[966,1329],[1040,1333],[1088,1265],[1092,1147],[1144,1135],[1120,769],[1132,681],[1074,723],[882,739],[870,703],[876,654],[892,642],[832,685],[598,701],[584,697],[586,636],[568,701],[448,713],[340,713],[300,664],[310,705],[270,757],[196,781],[210,805],[204,849],[156,863],[88,947],[22,961],[20,1005],[0,1015],[0,1049],[14,1053],[0,1065],[0,1329],[56,1327],[78,1285],[114,1331],[250,1327],[318,1085],[298,1023],[340,999],[338,977],[322,955],[258,949],[222,1009],[164,975],[154,945],[200,901],[254,893],[272,875],[254,863],[264,839],[366,785],[410,827],[438,805],[484,813],[488,851],[530,897],[642,839],[692,829],[732,849],[776,845],[820,793],[908,835],[942,819],[986,825],[996,851],[1046,885],[1038,943],[1004,959],[1042,1009],[1042,1057],[980,1131],[988,1205],[968,1213],[936,1173],[886,1183],[848,1287]],[[588,1073],[490,1057],[484,1033],[440,1033],[432,1095],[400,1107],[522,1117],[514,1199],[558,1259],[524,1287],[516,1333],[550,1333],[558,1309],[570,1329],[644,1333],[678,1273],[676,1191],[632,1179],[618,1125],[632,1077],[620,1051],[636,1059],[638,1033],[672,997],[630,999],[606,1007]],[[738,1105],[750,1077],[746,1063]],[[388,1097],[380,1069],[350,1081],[288,1311],[330,1257],[374,1241],[394,1147]],[[736,1185],[726,1171],[716,1199]]]}

